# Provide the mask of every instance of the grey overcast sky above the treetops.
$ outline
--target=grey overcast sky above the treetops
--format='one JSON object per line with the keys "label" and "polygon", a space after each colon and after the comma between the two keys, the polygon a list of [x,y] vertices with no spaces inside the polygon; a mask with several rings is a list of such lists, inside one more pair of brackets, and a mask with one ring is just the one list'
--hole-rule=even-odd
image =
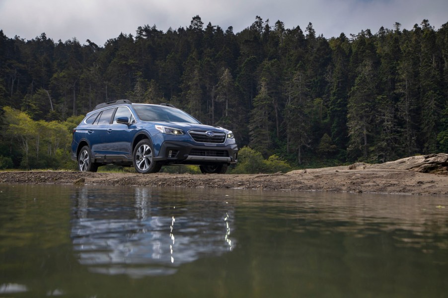
{"label": "grey overcast sky above the treetops", "polygon": [[272,27],[280,20],[304,31],[311,22],[317,35],[330,38],[393,29],[395,22],[410,30],[423,19],[437,30],[448,22],[448,0],[0,0],[0,29],[9,38],[29,40],[45,32],[55,42],[75,37],[99,46],[120,33],[135,36],[139,26],[163,32],[188,27],[196,15],[204,27],[232,26],[234,33],[257,15]]}

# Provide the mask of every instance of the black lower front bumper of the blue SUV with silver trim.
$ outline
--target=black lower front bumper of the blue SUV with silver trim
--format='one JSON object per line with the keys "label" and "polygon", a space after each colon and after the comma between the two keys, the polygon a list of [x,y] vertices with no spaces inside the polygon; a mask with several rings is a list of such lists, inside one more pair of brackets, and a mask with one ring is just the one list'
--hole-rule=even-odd
{"label": "black lower front bumper of the blue SUV with silver trim", "polygon": [[180,141],[165,141],[154,161],[187,165],[234,164],[237,162],[237,157],[236,144],[193,145]]}

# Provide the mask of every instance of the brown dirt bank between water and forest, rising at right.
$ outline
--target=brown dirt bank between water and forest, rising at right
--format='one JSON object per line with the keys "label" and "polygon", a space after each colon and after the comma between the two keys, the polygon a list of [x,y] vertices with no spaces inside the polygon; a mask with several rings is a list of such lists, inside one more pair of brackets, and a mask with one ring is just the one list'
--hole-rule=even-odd
{"label": "brown dirt bank between water and forest, rising at right", "polygon": [[[80,173],[69,171],[0,172],[0,183],[139,185],[211,187],[269,190],[400,193],[448,195],[448,155],[412,157],[379,165],[296,170],[289,173],[251,175]],[[433,159],[432,159],[433,160]],[[432,173],[428,171],[428,165]],[[417,165],[417,166],[416,166]],[[423,165],[423,167],[422,167]],[[440,166],[442,165],[442,166]],[[426,167],[426,168],[425,168]],[[438,173],[438,174],[434,174]]]}

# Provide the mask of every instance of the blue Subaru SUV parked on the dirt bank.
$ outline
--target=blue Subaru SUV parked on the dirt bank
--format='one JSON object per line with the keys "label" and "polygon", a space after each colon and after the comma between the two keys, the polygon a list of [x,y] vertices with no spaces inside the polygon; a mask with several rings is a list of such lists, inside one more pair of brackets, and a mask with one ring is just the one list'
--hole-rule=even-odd
{"label": "blue Subaru SUV parked on the dirt bank", "polygon": [[73,129],[72,159],[81,172],[110,164],[143,174],[163,165],[199,165],[202,173],[224,174],[237,155],[231,131],[204,125],[169,104],[100,104]]}

